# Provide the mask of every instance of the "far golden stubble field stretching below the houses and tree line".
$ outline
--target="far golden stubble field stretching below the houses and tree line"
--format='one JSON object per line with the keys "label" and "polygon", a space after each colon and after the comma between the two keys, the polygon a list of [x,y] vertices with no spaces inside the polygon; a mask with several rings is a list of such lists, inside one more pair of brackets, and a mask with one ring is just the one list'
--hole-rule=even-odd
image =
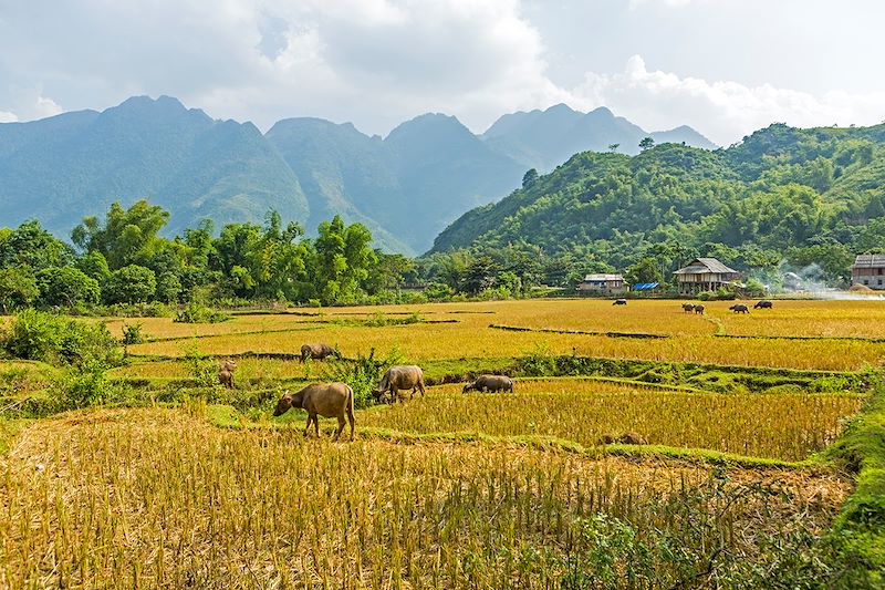
{"label": "far golden stubble field stretching below the houses and tree line", "polygon": [[[142,322],[144,332],[158,339],[131,346],[136,356],[180,358],[195,348],[215,356],[292,354],[304,342],[326,342],[348,356],[373,348],[396,349],[413,362],[512,358],[538,346],[556,354],[825,371],[856,371],[885,360],[885,342],[875,340],[885,339],[885,302],[777,301],[773,310],[751,310],[747,315],[733,314],[730,304],[709,302],[705,315],[684,313],[677,301],[631,301],[614,308],[601,300],[542,300],[332,308],[316,315],[237,315],[201,325],[176,324],[166,318],[126,321]],[[379,315],[409,314],[428,323],[360,324]],[[451,323],[429,323],[440,320]],[[115,320],[111,328],[119,330],[122,324]],[[590,333],[504,331],[490,324]],[[608,332],[666,338],[604,335]]]}

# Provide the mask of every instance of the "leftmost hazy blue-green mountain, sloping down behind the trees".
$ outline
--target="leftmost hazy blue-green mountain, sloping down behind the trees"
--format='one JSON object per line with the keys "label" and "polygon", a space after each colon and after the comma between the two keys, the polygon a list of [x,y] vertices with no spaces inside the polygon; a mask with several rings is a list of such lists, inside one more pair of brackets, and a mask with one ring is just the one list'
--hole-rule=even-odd
{"label": "leftmost hazy blue-green mountain, sloping down behind the trees", "polygon": [[[34,131],[35,130],[35,131]],[[251,123],[214,121],[175,99],[129,99],[103,113],[0,125],[4,224],[35,217],[65,235],[114,200],[147,197],[171,231],[211,218],[303,218],[298,178]]]}

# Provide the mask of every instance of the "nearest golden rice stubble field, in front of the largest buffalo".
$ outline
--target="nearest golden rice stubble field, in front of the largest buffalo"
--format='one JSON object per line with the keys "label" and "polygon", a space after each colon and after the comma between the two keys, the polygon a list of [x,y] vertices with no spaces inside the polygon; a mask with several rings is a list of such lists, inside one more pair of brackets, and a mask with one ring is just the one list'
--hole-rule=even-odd
{"label": "nearest golden rice stubble field, in front of the largest buffalo", "polygon": [[330,445],[168,410],[42,422],[0,472],[7,588],[673,586],[719,565],[719,546],[717,575],[740,579],[766,561],[762,532],[820,534],[850,493],[808,473]]}

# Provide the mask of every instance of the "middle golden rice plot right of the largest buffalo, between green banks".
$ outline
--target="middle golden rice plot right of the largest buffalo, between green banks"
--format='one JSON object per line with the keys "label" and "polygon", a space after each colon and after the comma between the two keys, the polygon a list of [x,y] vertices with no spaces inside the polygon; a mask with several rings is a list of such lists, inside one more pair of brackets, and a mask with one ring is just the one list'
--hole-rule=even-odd
{"label": "middle golden rice plot right of the largest buffalo, between green banks", "polygon": [[581,445],[625,432],[647,444],[799,460],[841,433],[857,395],[655,392],[586,380],[518,381],[512,394],[433,387],[425,398],[366,412],[360,423],[412,433],[549,436]]}

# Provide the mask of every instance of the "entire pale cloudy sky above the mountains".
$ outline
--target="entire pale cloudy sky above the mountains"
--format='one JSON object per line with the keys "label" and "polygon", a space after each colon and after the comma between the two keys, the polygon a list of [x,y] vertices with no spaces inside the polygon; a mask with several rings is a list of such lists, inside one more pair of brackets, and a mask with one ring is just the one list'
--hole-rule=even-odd
{"label": "entire pale cloudy sky above the mountains", "polygon": [[885,121],[882,0],[0,0],[0,122],[181,100],[386,135],[427,112],[607,106],[730,145]]}

